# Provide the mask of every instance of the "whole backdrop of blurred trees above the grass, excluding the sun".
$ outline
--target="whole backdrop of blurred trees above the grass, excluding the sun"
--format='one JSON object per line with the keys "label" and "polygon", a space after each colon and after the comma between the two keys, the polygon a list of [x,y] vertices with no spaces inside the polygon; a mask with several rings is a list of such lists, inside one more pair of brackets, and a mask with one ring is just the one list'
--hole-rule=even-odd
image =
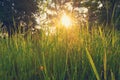
{"label": "whole backdrop of blurred trees above the grass, excluding the sun", "polygon": [[[64,12],[74,15],[78,25],[88,20],[89,27],[104,24],[119,28],[119,6],[119,0],[1,0],[0,20],[7,26],[9,35],[23,22],[27,29],[36,25],[35,17],[40,18],[42,27],[55,26]],[[87,13],[81,13],[83,7],[88,9]]]}

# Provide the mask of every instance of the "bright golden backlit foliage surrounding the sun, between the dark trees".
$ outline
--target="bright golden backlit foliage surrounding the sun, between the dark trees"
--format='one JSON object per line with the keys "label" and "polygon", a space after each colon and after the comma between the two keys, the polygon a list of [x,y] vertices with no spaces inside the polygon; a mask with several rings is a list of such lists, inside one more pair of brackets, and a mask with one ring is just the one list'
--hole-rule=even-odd
{"label": "bright golden backlit foliage surrounding the sun, between the dark trees", "polygon": [[76,25],[87,24],[88,9],[74,5],[72,1],[41,1],[38,5],[39,12],[36,15],[38,25],[41,27],[56,27],[60,24],[60,18],[63,14],[70,16]]}

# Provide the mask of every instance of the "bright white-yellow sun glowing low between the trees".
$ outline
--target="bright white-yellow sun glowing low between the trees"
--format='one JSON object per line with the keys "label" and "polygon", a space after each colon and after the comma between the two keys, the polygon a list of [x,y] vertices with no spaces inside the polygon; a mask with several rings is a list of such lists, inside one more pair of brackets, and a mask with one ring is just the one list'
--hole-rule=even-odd
{"label": "bright white-yellow sun glowing low between the trees", "polygon": [[65,27],[70,27],[72,25],[72,20],[68,15],[63,14],[61,17],[61,24]]}

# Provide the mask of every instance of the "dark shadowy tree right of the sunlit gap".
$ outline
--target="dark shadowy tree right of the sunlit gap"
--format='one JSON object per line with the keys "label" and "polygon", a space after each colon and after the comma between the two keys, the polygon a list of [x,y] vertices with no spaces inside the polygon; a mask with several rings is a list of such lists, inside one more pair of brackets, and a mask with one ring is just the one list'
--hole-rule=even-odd
{"label": "dark shadowy tree right of the sunlit gap", "polygon": [[120,23],[120,0],[87,0],[81,5],[89,9],[90,24],[116,27]]}

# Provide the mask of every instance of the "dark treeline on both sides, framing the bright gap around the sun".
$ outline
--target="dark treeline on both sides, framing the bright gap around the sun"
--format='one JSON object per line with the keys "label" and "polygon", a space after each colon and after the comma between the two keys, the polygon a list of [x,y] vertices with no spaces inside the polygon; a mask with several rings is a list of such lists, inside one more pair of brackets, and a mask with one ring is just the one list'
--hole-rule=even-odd
{"label": "dark treeline on both sides, framing the bright gap around the sun", "polygon": [[[46,2],[45,2],[46,1]],[[59,6],[64,5],[71,0],[1,0],[0,1],[0,22],[1,27],[6,26],[9,36],[12,35],[21,21],[26,25],[34,26],[36,24],[34,14],[37,14],[39,3],[44,3],[44,7],[55,3]],[[120,0],[72,0],[73,7],[88,8],[89,25],[102,24],[105,26],[114,26],[120,29]],[[30,23],[32,22],[32,23]]]}

